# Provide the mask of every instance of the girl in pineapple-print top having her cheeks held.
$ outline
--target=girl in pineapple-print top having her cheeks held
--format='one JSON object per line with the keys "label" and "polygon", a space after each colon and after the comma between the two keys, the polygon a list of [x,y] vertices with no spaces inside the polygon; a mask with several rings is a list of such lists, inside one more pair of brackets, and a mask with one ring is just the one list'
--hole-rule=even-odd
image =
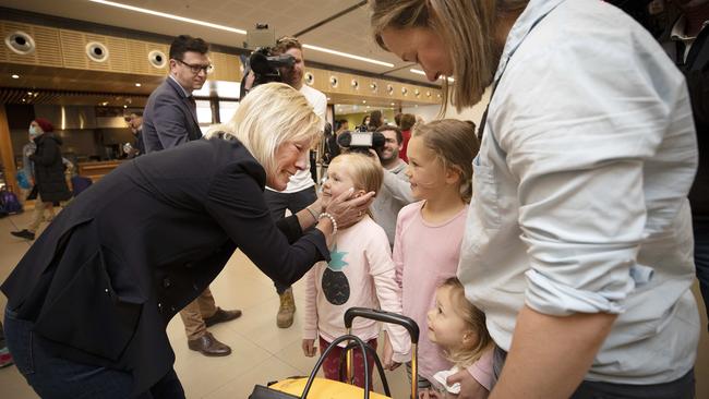
{"label": "girl in pineapple-print top having her cheeks held", "polygon": [[[323,206],[331,198],[354,189],[354,195],[378,191],[383,180],[382,168],[370,156],[344,154],[335,157],[327,169],[323,184]],[[302,349],[307,356],[315,355],[315,339],[321,352],[335,338],[347,332],[343,316],[352,306],[382,309],[401,313],[401,291],[395,281],[386,232],[370,216],[337,231],[331,249],[331,262],[320,262],[305,275],[307,294]],[[376,349],[378,324],[371,319],[356,318],[352,334]],[[392,363],[393,356],[410,359],[411,340],[400,326],[387,326],[386,347],[393,347],[384,356]],[[343,344],[344,346],[344,344]],[[326,378],[339,379],[341,350],[332,351],[323,363]],[[364,360],[354,351],[354,384],[364,387]],[[368,356],[370,380],[374,368]],[[370,387],[371,389],[371,387]]]}

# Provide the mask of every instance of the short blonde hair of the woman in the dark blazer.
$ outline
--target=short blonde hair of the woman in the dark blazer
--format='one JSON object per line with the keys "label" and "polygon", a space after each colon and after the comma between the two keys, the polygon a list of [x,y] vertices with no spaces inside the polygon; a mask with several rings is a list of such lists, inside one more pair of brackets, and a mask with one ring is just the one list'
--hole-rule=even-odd
{"label": "short blonde hair of the woman in the dark blazer", "polygon": [[308,140],[322,133],[322,120],[297,89],[284,83],[267,83],[249,92],[237,112],[225,124],[213,126],[206,138],[239,140],[273,176],[276,149],[286,142]]}

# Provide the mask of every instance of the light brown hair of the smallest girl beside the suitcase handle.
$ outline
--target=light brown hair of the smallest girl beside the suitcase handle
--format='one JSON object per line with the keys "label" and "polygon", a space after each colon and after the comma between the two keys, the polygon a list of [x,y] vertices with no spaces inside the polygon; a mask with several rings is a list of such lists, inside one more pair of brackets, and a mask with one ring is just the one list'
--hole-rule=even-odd
{"label": "light brown hair of the smallest girl beside the suitcase handle", "polygon": [[493,340],[485,326],[485,314],[476,307],[466,299],[466,291],[462,283],[457,277],[450,277],[445,280],[440,288],[450,288],[450,303],[453,311],[456,312],[466,324],[466,329],[476,334],[478,341],[471,346],[460,346],[459,348],[444,349],[445,356],[458,367],[469,367],[477,362],[480,356],[490,348]]}

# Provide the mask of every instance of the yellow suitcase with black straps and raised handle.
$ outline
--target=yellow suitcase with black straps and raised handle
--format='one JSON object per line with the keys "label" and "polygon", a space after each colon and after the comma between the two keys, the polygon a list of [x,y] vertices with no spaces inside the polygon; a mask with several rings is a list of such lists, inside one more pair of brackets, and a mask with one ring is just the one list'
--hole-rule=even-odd
{"label": "yellow suitcase with black straps and raised handle", "polygon": [[[351,335],[352,321],[356,317],[365,317],[375,319],[383,323],[398,324],[404,326],[411,336],[411,375],[417,375],[417,343],[419,341],[419,326],[410,319],[409,317],[364,307],[351,307],[345,312],[345,327],[347,327],[348,334],[334,340],[331,346],[323,352],[323,354],[317,360],[317,363],[313,367],[313,371],[310,373],[310,377],[292,377],[286,378],[281,382],[271,384],[265,387],[263,385],[256,385],[253,392],[249,396],[249,399],[354,399],[354,398],[371,398],[371,399],[388,399],[390,398],[389,387],[386,382],[386,376],[384,375],[384,370],[382,368],[382,363],[376,356],[376,352],[373,349],[369,348],[358,337]],[[347,349],[347,362],[346,362],[346,376],[347,380],[351,380],[351,351],[352,350],[362,350],[362,351],[372,351],[374,352],[374,362],[380,373],[380,378],[382,379],[382,385],[384,387],[384,395],[377,392],[366,391],[354,385],[340,383],[337,380],[326,379],[326,378],[316,378],[315,374],[320,370],[323,361],[331,351],[331,348],[334,348],[339,342],[350,341]],[[366,358],[366,356],[364,356]],[[341,366],[341,365],[340,365]],[[365,364],[365,367],[368,365]],[[368,373],[365,375],[365,386],[370,386]],[[418,389],[416,384],[416,378],[412,378],[411,382],[411,399],[418,398]]]}

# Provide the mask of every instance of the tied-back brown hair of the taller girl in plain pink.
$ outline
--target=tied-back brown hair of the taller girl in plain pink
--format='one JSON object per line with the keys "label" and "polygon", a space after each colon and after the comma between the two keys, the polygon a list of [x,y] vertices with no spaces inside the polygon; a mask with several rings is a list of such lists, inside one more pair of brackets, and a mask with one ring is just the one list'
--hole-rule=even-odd
{"label": "tied-back brown hair of the taller girl in plain pink", "polygon": [[476,136],[476,124],[457,119],[442,119],[413,126],[411,138],[421,137],[443,168],[459,173],[460,198],[470,203],[472,197],[472,158],[478,155],[480,144]]}

